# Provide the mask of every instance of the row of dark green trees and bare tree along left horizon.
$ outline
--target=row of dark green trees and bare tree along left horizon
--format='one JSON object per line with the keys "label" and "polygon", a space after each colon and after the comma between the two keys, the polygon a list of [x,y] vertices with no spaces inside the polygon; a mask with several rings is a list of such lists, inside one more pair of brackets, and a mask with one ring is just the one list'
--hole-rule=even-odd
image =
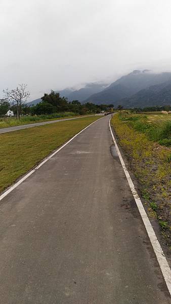
{"label": "row of dark green trees and bare tree along left horizon", "polygon": [[20,119],[21,115],[50,115],[59,112],[74,112],[76,115],[85,115],[87,113],[100,113],[113,107],[113,104],[96,105],[94,103],[81,104],[79,100],[68,101],[67,98],[61,97],[59,93],[51,90],[51,93],[44,94],[41,101],[36,105],[27,106],[25,103],[30,96],[26,90],[26,85],[19,85],[14,90],[4,90],[5,98],[0,99],[0,116],[6,115],[11,109],[14,115]]}

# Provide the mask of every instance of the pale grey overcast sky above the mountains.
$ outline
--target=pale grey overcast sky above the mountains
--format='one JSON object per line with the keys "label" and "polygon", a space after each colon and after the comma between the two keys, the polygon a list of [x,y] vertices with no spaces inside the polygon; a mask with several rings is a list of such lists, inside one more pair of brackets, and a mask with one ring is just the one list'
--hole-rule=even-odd
{"label": "pale grey overcast sky above the mountains", "polygon": [[171,70],[170,0],[0,0],[2,90],[111,81]]}

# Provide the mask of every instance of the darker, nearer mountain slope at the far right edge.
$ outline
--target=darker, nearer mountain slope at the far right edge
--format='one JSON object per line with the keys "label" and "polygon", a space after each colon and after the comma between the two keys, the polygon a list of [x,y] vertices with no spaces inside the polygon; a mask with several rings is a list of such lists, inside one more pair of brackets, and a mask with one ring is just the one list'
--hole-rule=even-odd
{"label": "darker, nearer mountain slope at the far right edge", "polygon": [[129,98],[119,100],[117,103],[124,107],[171,105],[171,81],[150,86]]}

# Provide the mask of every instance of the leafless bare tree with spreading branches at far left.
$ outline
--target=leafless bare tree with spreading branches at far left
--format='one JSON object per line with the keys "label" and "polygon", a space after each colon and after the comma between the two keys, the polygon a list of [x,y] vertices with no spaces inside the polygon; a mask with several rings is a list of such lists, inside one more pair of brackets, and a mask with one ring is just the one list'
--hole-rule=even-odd
{"label": "leafless bare tree with spreading branches at far left", "polygon": [[17,107],[17,119],[20,119],[21,107],[30,96],[30,93],[26,91],[26,87],[27,85],[21,84],[18,85],[16,89],[7,89],[3,91],[8,101],[11,102],[12,105],[15,105]]}

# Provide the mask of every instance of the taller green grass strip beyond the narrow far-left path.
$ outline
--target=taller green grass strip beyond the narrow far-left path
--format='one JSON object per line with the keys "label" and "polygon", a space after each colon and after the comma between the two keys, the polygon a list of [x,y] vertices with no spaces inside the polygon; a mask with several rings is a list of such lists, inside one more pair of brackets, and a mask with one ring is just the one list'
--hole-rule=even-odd
{"label": "taller green grass strip beyond the narrow far-left path", "polygon": [[16,118],[0,118],[0,129],[72,117],[80,117],[80,115],[75,115],[73,112],[62,112],[51,115],[26,116],[21,117],[20,120]]}

